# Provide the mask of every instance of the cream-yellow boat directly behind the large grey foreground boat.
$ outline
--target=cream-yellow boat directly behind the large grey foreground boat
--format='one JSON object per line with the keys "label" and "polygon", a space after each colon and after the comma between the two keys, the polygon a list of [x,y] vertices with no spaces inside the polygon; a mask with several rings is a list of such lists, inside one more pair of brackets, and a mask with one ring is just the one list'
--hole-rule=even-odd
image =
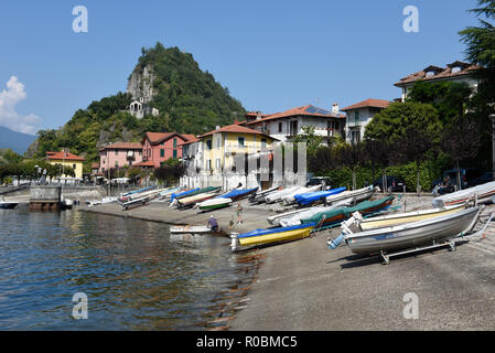
{"label": "cream-yellow boat directly behind the large grey foreground boat", "polygon": [[398,213],[398,214],[391,214],[391,215],[387,215],[387,216],[364,218],[358,222],[358,226],[362,232],[365,232],[365,231],[369,231],[369,229],[384,228],[384,227],[389,227],[389,226],[399,225],[399,224],[403,224],[403,223],[410,223],[410,222],[417,222],[417,221],[440,217],[440,216],[444,216],[448,214],[460,212],[464,208],[465,208],[465,204],[462,204],[462,205],[445,206],[445,207],[431,208],[431,210],[421,210],[421,211],[415,211],[415,212]]}

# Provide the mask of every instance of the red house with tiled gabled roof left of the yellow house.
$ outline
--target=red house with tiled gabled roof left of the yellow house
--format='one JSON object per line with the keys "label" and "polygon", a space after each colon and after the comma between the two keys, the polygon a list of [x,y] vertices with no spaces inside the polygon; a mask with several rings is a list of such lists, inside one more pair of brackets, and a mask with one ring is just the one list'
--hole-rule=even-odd
{"label": "red house with tiled gabled roof left of the yellow house", "polygon": [[182,158],[181,143],[194,138],[189,133],[147,132],[142,139],[142,161],[159,168],[170,158]]}

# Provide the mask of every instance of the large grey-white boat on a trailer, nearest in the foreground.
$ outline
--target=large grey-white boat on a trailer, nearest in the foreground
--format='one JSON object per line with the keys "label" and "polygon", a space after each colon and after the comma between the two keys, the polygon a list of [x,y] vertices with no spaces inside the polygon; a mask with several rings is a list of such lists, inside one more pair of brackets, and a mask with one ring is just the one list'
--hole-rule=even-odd
{"label": "large grey-white boat on a trailer, nearest in the foreground", "polygon": [[355,254],[376,254],[412,248],[451,239],[470,232],[477,222],[478,207],[395,227],[349,234],[346,243]]}

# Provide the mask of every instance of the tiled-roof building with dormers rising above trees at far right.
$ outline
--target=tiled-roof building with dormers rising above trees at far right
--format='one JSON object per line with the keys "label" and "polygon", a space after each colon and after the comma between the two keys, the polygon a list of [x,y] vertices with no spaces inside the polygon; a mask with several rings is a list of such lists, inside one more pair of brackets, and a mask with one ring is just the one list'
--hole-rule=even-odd
{"label": "tiled-roof building with dormers rising above trees at far right", "polygon": [[476,89],[477,81],[473,78],[473,72],[478,69],[480,66],[476,64],[469,64],[464,62],[453,62],[452,64],[448,64],[446,67],[439,67],[430,65],[423,68],[420,72],[415,74],[410,74],[403,78],[401,78],[398,83],[394,84],[394,86],[402,89],[401,100],[405,101],[408,96],[410,89],[417,82],[456,82],[456,83],[465,83],[470,87]]}

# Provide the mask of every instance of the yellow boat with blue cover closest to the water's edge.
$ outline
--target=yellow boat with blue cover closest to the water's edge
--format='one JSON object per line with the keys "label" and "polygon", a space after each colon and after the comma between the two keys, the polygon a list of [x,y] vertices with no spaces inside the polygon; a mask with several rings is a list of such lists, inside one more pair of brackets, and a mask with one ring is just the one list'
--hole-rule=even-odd
{"label": "yellow boat with blue cover closest to the water's edge", "polygon": [[239,234],[237,240],[243,246],[297,240],[310,236],[315,225],[315,223],[308,223],[289,227],[256,229]]}

